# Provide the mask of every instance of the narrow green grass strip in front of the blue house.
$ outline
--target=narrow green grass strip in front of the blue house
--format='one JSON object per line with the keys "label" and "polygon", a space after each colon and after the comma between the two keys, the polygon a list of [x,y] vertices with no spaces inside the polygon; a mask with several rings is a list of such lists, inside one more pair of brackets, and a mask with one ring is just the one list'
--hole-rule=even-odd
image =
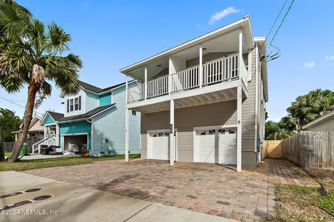
{"label": "narrow green grass strip in front of the blue house", "polygon": [[[139,154],[129,154],[129,158],[140,157]],[[46,167],[61,167],[79,164],[89,164],[96,161],[120,160],[125,155],[115,155],[106,157],[58,157],[42,160],[19,160],[19,162],[0,162],[0,171],[24,171],[26,169],[39,169]]]}

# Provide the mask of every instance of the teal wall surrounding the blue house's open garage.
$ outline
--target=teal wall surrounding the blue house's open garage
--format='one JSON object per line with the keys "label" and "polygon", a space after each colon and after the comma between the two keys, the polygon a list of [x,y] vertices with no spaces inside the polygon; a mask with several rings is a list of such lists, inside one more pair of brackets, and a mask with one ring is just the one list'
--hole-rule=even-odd
{"label": "teal wall surrounding the blue house's open garage", "polygon": [[[71,134],[71,133],[88,133],[88,149],[91,148],[91,128],[88,121],[77,121],[72,123],[60,123],[59,124],[59,144],[61,145],[61,135]],[[63,148],[63,147],[61,147]]]}

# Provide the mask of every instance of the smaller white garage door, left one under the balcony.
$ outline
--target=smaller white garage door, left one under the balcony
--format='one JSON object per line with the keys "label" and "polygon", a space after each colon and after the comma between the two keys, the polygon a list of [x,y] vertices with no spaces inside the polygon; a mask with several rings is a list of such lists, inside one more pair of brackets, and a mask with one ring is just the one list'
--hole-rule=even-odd
{"label": "smaller white garage door, left one under the balcony", "polygon": [[148,158],[169,160],[169,132],[149,133]]}

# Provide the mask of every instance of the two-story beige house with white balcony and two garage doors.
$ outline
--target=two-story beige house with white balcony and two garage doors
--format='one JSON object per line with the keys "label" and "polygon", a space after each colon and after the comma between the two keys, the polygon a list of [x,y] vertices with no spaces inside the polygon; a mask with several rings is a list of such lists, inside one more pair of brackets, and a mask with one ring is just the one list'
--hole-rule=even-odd
{"label": "two-story beige house with white balcony and two garage doors", "polygon": [[268,101],[265,40],[253,36],[246,16],[120,69],[137,82],[128,86],[126,112],[141,112],[141,157],[237,171],[257,165]]}

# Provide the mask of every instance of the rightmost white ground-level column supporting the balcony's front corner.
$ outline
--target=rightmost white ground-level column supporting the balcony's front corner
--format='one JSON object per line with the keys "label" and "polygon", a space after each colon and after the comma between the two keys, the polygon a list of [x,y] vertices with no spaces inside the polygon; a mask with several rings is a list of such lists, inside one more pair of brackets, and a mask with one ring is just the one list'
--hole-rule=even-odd
{"label": "rightmost white ground-level column supporting the balcony's front corner", "polygon": [[242,88],[237,87],[237,171],[241,171],[241,138],[242,138]]}

